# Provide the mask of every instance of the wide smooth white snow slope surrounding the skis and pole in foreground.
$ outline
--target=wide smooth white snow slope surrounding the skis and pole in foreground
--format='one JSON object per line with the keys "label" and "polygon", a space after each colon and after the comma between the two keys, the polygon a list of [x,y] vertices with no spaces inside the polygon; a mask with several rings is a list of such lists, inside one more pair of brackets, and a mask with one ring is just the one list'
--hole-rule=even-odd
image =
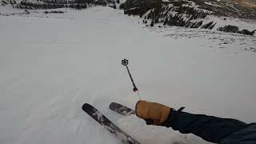
{"label": "wide smooth white snow slope surrounding the skis and pole in foreground", "polygon": [[64,10],[0,15],[0,143],[121,143],[85,102],[141,143],[207,143],[108,109],[138,101],[123,58],[147,101],[256,121],[255,36],[148,28],[110,7]]}

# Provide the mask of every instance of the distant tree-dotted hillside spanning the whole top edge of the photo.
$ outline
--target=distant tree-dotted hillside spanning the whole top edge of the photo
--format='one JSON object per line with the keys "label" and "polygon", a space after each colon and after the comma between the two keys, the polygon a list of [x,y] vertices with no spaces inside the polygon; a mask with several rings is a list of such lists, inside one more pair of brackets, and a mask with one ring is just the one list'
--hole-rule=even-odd
{"label": "distant tree-dotted hillside spanning the whole top edge of the photo", "polygon": [[[28,10],[81,10],[91,6],[110,6],[123,9],[124,14],[139,15],[146,26],[160,23],[165,26],[214,29],[248,35],[254,35],[256,31],[256,6],[254,2],[241,0],[2,0],[2,6],[10,5],[26,10],[25,14],[29,14]],[[62,13],[50,13],[58,12]],[[248,20],[253,21],[252,24]]]}

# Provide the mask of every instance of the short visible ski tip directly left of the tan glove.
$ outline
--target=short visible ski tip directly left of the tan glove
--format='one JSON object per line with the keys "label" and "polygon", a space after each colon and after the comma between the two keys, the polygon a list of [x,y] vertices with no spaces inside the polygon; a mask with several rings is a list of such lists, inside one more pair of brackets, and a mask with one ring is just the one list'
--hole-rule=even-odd
{"label": "short visible ski tip directly left of the tan glove", "polygon": [[127,106],[123,106],[122,104],[116,103],[116,102],[111,102],[110,103],[110,110],[113,110],[114,112],[118,114],[122,114],[124,116],[129,116],[131,114],[135,114],[135,111],[130,109]]}

